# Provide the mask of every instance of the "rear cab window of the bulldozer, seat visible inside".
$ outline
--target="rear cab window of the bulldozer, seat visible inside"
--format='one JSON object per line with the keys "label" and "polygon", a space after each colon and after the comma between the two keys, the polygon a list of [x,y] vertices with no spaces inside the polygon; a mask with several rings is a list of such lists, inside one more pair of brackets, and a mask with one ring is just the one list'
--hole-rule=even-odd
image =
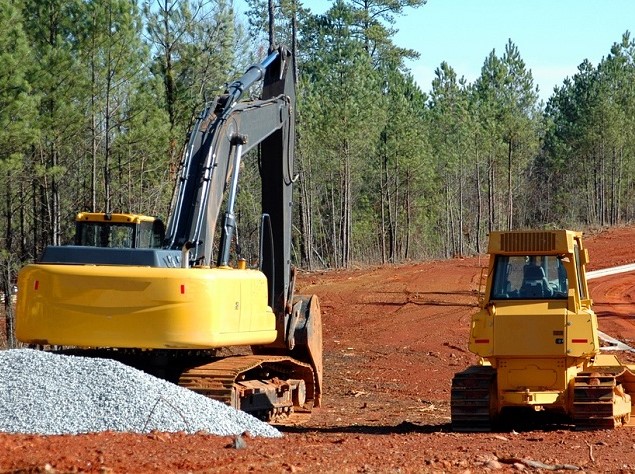
{"label": "rear cab window of the bulldozer, seat visible inside", "polygon": [[567,271],[556,255],[497,255],[491,299],[567,297]]}

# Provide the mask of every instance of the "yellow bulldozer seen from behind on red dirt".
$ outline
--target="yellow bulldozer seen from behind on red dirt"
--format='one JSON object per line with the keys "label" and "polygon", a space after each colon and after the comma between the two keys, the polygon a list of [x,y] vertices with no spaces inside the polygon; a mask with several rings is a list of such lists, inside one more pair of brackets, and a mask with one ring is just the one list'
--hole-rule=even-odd
{"label": "yellow bulldozer seen from behind on red dirt", "polygon": [[582,234],[491,232],[488,252],[469,339],[480,364],[452,380],[452,429],[490,431],[519,409],[576,429],[630,424],[635,366],[601,351]]}

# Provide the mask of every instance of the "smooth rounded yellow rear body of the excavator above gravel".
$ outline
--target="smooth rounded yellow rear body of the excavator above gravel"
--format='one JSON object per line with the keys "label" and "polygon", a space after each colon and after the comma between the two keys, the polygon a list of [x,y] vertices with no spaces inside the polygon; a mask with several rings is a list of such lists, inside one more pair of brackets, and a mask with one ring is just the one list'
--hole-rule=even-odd
{"label": "smooth rounded yellow rear body of the excavator above gravel", "polygon": [[276,339],[257,270],[33,264],[18,284],[16,335],[29,344],[201,349]]}

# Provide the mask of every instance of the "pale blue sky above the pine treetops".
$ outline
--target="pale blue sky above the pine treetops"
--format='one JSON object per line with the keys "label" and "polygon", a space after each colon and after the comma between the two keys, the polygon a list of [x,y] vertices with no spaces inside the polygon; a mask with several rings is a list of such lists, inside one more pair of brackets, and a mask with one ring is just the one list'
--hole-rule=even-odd
{"label": "pale blue sky above the pine treetops", "polygon": [[[332,2],[302,3],[323,13]],[[426,92],[442,61],[473,82],[489,53],[502,56],[511,39],[546,100],[584,59],[597,66],[624,32],[634,33],[635,0],[428,0],[395,27],[394,42],[420,54],[408,67]]]}

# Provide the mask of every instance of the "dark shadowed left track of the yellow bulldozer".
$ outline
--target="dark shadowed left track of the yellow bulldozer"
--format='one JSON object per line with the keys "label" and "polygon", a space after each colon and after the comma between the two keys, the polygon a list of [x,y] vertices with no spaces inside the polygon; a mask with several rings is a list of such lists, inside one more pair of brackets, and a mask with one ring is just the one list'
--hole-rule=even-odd
{"label": "dark shadowed left track of the yellow bulldozer", "polygon": [[452,430],[491,431],[494,419],[496,371],[487,366],[471,366],[452,379],[450,414]]}

